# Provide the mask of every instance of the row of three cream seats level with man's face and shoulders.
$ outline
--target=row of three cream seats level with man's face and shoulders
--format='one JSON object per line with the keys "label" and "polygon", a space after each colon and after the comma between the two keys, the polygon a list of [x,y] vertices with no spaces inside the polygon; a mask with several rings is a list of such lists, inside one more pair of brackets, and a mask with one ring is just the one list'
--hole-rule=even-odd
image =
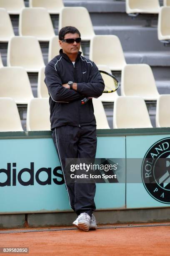
{"label": "row of three cream seats level with man's face and shoulders", "polygon": [[[58,40],[58,36],[54,36],[49,42],[48,61],[59,54]],[[126,64],[120,40],[114,35],[92,37],[89,59],[96,64],[104,64],[111,70],[118,71],[122,70]],[[12,37],[7,47],[7,66],[24,67],[27,72],[38,72],[42,66],[45,66],[37,38],[33,36]]]}

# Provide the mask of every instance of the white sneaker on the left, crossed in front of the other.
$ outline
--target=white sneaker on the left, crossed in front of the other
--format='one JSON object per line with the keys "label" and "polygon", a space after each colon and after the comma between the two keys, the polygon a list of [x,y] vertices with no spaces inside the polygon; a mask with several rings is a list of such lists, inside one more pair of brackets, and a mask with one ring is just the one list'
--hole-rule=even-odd
{"label": "white sneaker on the left, crossed in front of the other", "polygon": [[80,230],[88,231],[90,228],[90,220],[90,216],[86,212],[82,212],[72,224]]}

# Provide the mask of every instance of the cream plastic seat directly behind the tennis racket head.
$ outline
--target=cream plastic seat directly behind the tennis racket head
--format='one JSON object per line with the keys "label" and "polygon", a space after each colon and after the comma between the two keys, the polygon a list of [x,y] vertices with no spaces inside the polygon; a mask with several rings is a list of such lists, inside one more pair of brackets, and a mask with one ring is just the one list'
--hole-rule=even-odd
{"label": "cream plastic seat directly behind the tennis racket head", "polygon": [[[97,67],[99,70],[112,74],[110,68],[106,65],[97,65]],[[113,79],[106,74],[101,73],[101,75],[102,79],[104,80],[105,86],[108,85],[109,87],[109,84],[111,85],[113,83]],[[112,93],[103,93],[98,99],[100,99],[102,102],[114,102],[117,97],[119,96],[117,94],[117,91],[115,91]]]}

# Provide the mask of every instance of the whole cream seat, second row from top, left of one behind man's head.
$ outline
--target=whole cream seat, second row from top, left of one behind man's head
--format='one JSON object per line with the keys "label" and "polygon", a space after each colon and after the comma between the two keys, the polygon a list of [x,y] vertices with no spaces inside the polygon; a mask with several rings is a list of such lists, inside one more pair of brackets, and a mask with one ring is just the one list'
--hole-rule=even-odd
{"label": "whole cream seat, second row from top, left of one behind man's head", "polygon": [[55,36],[50,14],[45,8],[24,8],[19,18],[19,34],[49,41]]}

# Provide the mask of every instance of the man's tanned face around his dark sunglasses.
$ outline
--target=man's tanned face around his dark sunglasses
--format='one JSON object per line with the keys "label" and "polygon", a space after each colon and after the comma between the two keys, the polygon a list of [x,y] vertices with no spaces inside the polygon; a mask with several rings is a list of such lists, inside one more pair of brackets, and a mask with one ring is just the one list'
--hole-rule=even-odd
{"label": "man's tanned face around his dark sunglasses", "polygon": [[[75,34],[67,33],[65,34],[64,39],[79,38],[79,37],[80,36],[77,33]],[[59,40],[59,44],[65,54],[76,54],[80,50],[80,43],[76,43],[76,41],[70,44],[70,43],[62,42],[61,40]]]}

